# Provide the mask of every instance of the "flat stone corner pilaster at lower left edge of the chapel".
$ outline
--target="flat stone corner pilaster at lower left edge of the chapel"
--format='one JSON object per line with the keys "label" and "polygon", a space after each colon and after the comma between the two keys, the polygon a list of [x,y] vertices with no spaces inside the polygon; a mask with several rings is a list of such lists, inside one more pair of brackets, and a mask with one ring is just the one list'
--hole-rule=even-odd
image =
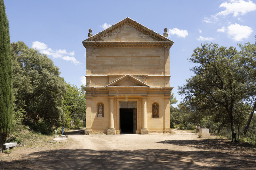
{"label": "flat stone corner pilaster at lower left edge of the chapel", "polygon": [[92,134],[92,96],[90,94],[86,94],[86,128],[84,130],[85,135]]}

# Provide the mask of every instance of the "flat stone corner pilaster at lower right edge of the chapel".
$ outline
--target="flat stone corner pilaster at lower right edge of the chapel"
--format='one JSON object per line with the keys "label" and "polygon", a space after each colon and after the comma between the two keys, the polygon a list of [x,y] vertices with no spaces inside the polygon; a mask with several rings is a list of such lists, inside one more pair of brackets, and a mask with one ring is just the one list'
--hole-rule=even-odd
{"label": "flat stone corner pilaster at lower right edge of the chapel", "polygon": [[164,95],[164,133],[172,133],[170,128],[170,93]]}

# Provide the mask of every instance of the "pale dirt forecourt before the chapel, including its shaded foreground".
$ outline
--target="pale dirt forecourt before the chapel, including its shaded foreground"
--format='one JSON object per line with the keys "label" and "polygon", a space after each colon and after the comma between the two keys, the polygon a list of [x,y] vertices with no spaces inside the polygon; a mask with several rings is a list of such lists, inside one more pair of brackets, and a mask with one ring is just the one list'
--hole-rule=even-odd
{"label": "pale dirt forecourt before the chapel, including its shaded foreground", "polygon": [[[63,149],[28,153],[4,169],[255,169],[256,152],[227,140],[173,134],[68,135]],[[19,154],[12,153],[12,154]],[[22,165],[22,166],[17,166]],[[1,166],[0,166],[1,167]]]}

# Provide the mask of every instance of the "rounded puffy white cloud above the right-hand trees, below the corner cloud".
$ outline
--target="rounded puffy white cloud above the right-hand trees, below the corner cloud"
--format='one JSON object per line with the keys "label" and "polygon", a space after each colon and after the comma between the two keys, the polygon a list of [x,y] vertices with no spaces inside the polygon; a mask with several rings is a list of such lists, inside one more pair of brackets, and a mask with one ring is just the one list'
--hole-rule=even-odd
{"label": "rounded puffy white cloud above the right-hand trees, below the corner cloud", "polygon": [[228,26],[228,37],[231,37],[234,41],[243,41],[243,39],[247,39],[252,32],[252,28],[249,26],[241,26],[236,23]]}

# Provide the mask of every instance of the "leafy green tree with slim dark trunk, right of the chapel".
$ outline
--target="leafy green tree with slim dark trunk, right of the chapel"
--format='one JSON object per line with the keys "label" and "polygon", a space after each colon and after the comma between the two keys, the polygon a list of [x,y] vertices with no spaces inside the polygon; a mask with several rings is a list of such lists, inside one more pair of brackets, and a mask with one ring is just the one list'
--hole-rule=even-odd
{"label": "leafy green tree with slim dark trunk, right of the chapel", "polygon": [[[202,44],[189,58],[196,66],[195,76],[179,87],[180,94],[189,101],[200,101],[200,108],[219,108],[229,119],[232,142],[236,141],[234,108],[244,100],[248,84],[248,70],[236,48],[219,47],[218,44]],[[208,112],[209,113],[209,112]]]}

